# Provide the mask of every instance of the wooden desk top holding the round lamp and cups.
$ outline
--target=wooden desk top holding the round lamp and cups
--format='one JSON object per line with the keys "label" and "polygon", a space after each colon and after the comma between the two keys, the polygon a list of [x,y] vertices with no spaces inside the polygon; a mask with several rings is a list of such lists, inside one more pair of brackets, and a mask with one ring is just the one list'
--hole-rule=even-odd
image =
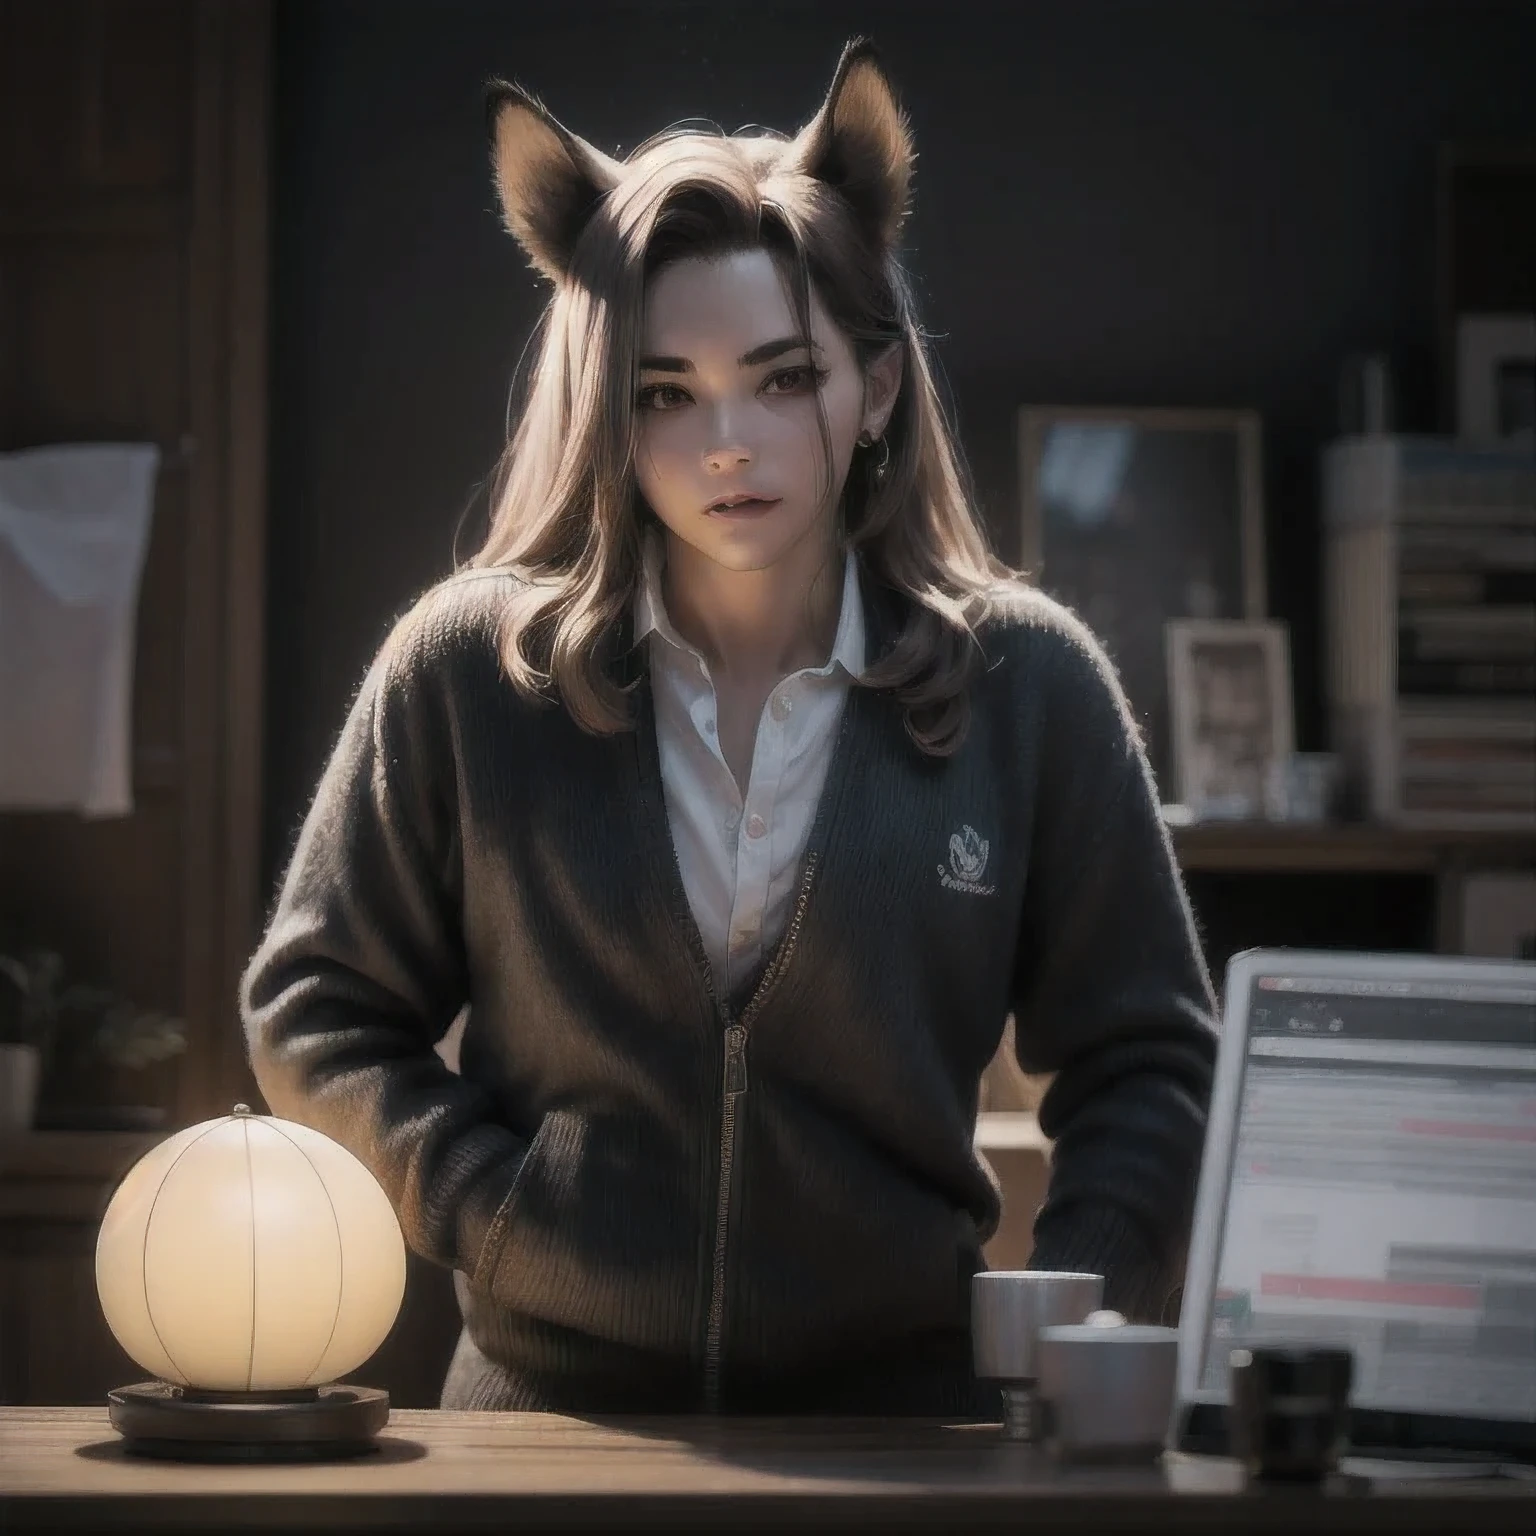
{"label": "wooden desk top holding the round lamp and cups", "polygon": [[1530,1531],[1536,1482],[1249,1491],[1224,1461],[1057,1468],[995,1425],[396,1410],[366,1459],[126,1456],[106,1409],[0,1410],[0,1530]]}

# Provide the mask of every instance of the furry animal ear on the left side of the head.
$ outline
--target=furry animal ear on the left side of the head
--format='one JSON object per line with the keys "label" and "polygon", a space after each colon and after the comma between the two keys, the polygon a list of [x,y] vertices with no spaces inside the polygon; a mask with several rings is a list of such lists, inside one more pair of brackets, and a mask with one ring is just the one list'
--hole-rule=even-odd
{"label": "furry animal ear on the left side of the head", "polygon": [[576,240],[624,166],[562,127],[521,86],[485,88],[485,126],[501,217],[547,278],[570,267]]}

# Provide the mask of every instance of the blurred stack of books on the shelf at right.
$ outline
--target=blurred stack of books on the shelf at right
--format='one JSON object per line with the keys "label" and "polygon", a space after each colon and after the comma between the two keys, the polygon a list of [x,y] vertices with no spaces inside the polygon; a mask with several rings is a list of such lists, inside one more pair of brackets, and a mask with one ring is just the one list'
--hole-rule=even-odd
{"label": "blurred stack of books on the shelf at right", "polygon": [[1536,459],[1445,438],[1322,458],[1329,711],[1364,809],[1536,828]]}

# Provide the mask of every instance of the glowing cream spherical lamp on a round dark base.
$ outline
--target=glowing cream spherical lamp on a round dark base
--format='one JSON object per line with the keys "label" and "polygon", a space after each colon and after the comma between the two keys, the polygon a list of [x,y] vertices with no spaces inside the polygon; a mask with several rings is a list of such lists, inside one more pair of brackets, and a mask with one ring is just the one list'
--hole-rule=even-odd
{"label": "glowing cream spherical lamp on a round dark base", "polygon": [[95,1276],[155,1376],[108,1393],[134,1450],[316,1459],[389,1421],[387,1393],[336,1378],[393,1327],[406,1244],[378,1180],[309,1126],[237,1104],[160,1143],[112,1195]]}

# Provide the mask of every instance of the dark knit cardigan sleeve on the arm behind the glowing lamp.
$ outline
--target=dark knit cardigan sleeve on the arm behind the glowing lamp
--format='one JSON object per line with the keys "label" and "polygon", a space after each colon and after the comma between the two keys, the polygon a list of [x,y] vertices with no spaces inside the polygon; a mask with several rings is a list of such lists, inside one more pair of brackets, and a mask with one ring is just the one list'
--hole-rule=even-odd
{"label": "dark knit cardigan sleeve on the arm behind the glowing lamp", "polygon": [[468,1000],[453,731],[407,617],[326,766],[241,985],[257,1083],[378,1178],[407,1244],[475,1275],[525,1143],[433,1049]]}

